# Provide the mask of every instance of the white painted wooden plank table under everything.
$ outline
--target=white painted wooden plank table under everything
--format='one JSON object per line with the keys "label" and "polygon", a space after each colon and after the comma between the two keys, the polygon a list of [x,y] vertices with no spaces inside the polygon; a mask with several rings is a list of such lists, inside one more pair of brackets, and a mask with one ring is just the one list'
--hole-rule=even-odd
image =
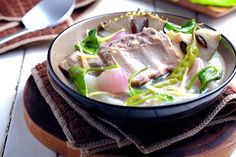
{"label": "white painted wooden plank table under everything", "polygon": [[[220,32],[236,45],[236,12],[214,19],[159,0],[100,0],[83,13],[81,19],[94,15],[128,10],[155,10],[196,18]],[[0,156],[57,157],[42,145],[26,127],[22,94],[30,70],[46,60],[49,43],[16,49],[0,55]],[[236,78],[233,83],[236,84]],[[236,151],[232,155],[236,157]]]}

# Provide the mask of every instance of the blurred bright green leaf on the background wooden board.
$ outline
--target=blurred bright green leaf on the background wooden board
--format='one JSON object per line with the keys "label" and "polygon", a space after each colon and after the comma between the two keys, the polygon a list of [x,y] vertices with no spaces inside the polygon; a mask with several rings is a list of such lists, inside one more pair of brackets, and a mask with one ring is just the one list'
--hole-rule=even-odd
{"label": "blurred bright green leaf on the background wooden board", "polygon": [[191,0],[192,3],[218,7],[231,7],[236,5],[235,0]]}

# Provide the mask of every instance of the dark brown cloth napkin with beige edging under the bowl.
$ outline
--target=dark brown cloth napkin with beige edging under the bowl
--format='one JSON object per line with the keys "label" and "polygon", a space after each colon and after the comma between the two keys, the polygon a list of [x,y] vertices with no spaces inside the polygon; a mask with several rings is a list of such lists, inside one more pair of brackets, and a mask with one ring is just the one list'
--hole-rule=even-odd
{"label": "dark brown cloth napkin with beige edging under the bowl", "polygon": [[[205,110],[175,122],[152,123],[146,126],[120,124],[95,117],[68,96],[50,79],[47,62],[32,69],[34,80],[67,137],[68,144],[90,155],[115,148],[135,146],[150,154],[184,139],[207,127],[232,123],[236,125],[236,88],[228,86]],[[175,129],[173,129],[175,128]]]}

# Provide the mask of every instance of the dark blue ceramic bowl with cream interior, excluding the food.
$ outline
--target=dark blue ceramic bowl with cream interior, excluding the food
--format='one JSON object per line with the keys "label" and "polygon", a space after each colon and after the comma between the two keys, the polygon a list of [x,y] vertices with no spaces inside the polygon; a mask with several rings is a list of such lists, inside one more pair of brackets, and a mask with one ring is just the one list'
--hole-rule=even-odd
{"label": "dark blue ceramic bowl with cream interior, excluding the food", "polygon": [[[47,58],[48,71],[52,80],[75,103],[86,109],[89,113],[115,121],[174,120],[187,117],[196,114],[210,105],[224,91],[230,80],[235,75],[236,52],[230,41],[222,35],[218,51],[226,63],[224,79],[217,88],[197,98],[164,106],[127,107],[99,102],[78,94],[69,82],[68,78],[66,78],[59,69],[59,63],[74,52],[74,44],[85,36],[86,30],[96,28],[101,21],[107,21],[108,19],[117,17],[120,14],[121,13],[111,13],[82,20],[60,33],[49,48]],[[188,20],[185,17],[171,14],[158,13],[158,15],[177,24],[183,24]],[[210,28],[207,25],[204,25],[204,27]]]}

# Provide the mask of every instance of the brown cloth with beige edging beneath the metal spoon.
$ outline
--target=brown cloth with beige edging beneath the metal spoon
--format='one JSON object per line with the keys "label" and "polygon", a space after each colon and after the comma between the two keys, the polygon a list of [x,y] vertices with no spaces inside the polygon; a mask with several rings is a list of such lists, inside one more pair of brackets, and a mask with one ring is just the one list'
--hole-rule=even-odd
{"label": "brown cloth with beige edging beneath the metal spoon", "polygon": [[[79,16],[88,9],[88,4],[95,0],[76,0],[75,9],[70,18],[58,26],[45,28],[15,38],[0,45],[0,54],[29,43],[52,40],[62,30],[76,22]],[[1,0],[0,1],[0,38],[18,32],[23,28],[20,20],[39,0]],[[86,6],[86,7],[85,7]]]}

